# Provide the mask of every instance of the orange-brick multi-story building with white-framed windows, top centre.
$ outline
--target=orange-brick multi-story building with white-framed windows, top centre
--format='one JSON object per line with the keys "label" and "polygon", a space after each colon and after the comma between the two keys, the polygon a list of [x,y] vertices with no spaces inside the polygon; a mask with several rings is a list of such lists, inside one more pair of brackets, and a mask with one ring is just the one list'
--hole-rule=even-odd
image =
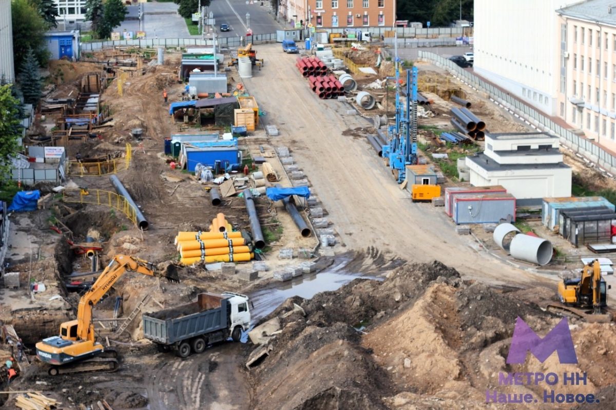
{"label": "orange-brick multi-story building with white-framed windows, top centre", "polygon": [[395,20],[395,0],[306,0],[304,10],[315,27],[391,27]]}

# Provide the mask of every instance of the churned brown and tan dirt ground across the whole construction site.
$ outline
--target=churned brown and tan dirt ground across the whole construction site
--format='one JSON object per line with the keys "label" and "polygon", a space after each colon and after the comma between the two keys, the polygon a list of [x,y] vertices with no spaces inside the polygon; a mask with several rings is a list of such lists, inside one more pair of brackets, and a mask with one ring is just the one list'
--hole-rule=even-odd
{"label": "churned brown and tan dirt ground across the whole construction site", "polygon": [[[253,135],[240,138],[241,149],[252,157],[271,153],[268,160],[284,184],[290,184],[290,178],[275,148],[290,149],[336,232],[335,256],[312,254],[318,242],[315,236],[302,238],[282,205],[257,199],[259,219],[272,238],[264,255],[269,269],[259,271],[256,281],[203,266],[180,268],[179,284],[128,273],[94,309],[98,340],[120,352],[118,371],[49,376],[46,365],[34,360],[31,365],[22,364],[23,372],[10,388],[42,391],[67,409],[95,406],[103,400],[115,410],[500,409],[511,404],[492,403],[489,392],[530,394],[543,400],[545,389],[595,393],[601,408],[613,408],[616,329],[612,323],[569,320],[577,365],[561,365],[556,354],[543,363],[532,355],[522,365],[505,362],[517,317],[541,335],[561,320],[545,312],[547,304],[557,301],[559,278],[494,258],[470,235],[456,235],[442,208],[411,202],[364,138],[374,129],[370,117],[375,112],[392,112],[393,106],[383,105],[384,90],[379,95],[382,105],[375,112],[320,100],[298,73],[295,57],[283,54],[277,44],[256,47],[266,64],[242,83],[265,113],[262,124],[275,125],[280,135],[268,136],[257,128]],[[374,55],[365,52],[364,57]],[[184,85],[176,80],[180,58],[179,52],[166,53],[164,65],[147,66],[143,76],[129,77],[122,95],[117,79],[111,81],[101,103],[109,107],[113,119],[107,127],[97,128],[100,138],[71,143],[68,149],[69,158],[74,159],[78,153],[95,157],[125,152],[125,144],[132,144],[129,169],[117,176],[147,217],[147,231],[140,231],[120,210],[105,203],[64,202],[62,194],[52,191],[52,184],[37,186],[42,195],[52,194],[44,209],[11,217],[15,241],[7,262],[10,272],[20,272],[22,288],[0,290],[0,322],[13,325],[30,349],[44,337],[58,334],[60,323],[75,318],[80,294],[69,293],[66,284],[74,280],[71,275],[87,272],[91,262],[76,254],[75,245],[67,239],[82,243],[92,229],[97,231],[97,243],[103,248],[99,269],[103,269],[117,254],[155,263],[177,261],[177,232],[208,231],[219,212],[224,212],[234,230],[250,231],[244,199],[225,197],[221,207],[213,207],[204,186],[188,173],[171,169],[162,152],[163,140],[171,133],[192,131],[171,119],[162,96],[166,89],[169,101],[182,99]],[[374,64],[362,58],[356,63]],[[373,82],[383,77],[380,74],[387,75],[391,62],[384,63],[389,65],[381,67],[379,76],[360,81]],[[481,95],[471,94],[440,69],[417,65],[424,84],[468,92],[465,97],[472,100],[476,112],[490,118],[490,131],[526,130],[519,120]],[[99,69],[91,62],[53,66],[50,73],[58,73],[57,82],[62,82],[60,71],[67,74],[63,74],[65,84],[51,95],[60,98],[73,87],[78,89],[67,80],[68,71],[79,73],[70,77],[79,81],[79,76]],[[237,71],[232,69],[228,75],[235,88],[240,82]],[[434,100],[436,115],[419,124],[448,126],[452,104],[442,98],[443,90],[428,89],[425,95]],[[131,136],[134,128],[143,130],[142,140]],[[584,178],[596,175],[575,156],[567,158]],[[89,191],[90,198],[97,190],[113,191],[108,176],[71,175],[70,179]],[[48,229],[56,220],[70,229],[70,238]],[[297,259],[278,258],[285,248],[310,250],[313,257],[307,260],[317,262],[316,272],[289,282],[274,280],[277,269]],[[238,272],[251,270],[251,264],[237,265]],[[30,293],[30,283],[44,283],[46,291]],[[173,352],[158,352],[144,338],[140,316],[121,334],[110,326],[118,297],[123,299],[126,316],[146,295],[152,301],[143,313],[195,301],[197,294],[206,291],[247,294],[253,301],[253,327],[280,319],[280,330],[267,344],[266,357],[246,366],[251,353],[259,349],[246,334],[242,343],[218,342],[204,353],[179,358]],[[554,387],[500,385],[500,373],[514,372],[586,373],[588,382],[573,386],[561,382]],[[17,407],[11,399],[3,408]],[[574,407],[550,403],[538,408]],[[590,408],[590,404],[578,408]]]}

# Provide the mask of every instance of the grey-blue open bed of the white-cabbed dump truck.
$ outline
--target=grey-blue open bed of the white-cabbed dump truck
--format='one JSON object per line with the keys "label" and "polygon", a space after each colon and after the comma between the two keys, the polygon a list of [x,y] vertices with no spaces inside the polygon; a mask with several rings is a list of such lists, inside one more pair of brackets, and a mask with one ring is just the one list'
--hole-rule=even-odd
{"label": "grey-blue open bed of the white-cabbed dump truck", "polygon": [[197,302],[144,314],[144,336],[158,343],[172,344],[225,329],[228,318],[229,296],[201,293]]}

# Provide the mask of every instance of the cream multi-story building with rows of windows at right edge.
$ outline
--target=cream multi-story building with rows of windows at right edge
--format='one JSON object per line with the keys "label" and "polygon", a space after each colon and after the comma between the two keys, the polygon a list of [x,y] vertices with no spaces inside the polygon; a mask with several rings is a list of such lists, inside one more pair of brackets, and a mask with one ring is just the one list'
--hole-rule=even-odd
{"label": "cream multi-story building with rows of windows at right edge", "polygon": [[556,13],[557,116],[616,151],[616,2],[588,0]]}

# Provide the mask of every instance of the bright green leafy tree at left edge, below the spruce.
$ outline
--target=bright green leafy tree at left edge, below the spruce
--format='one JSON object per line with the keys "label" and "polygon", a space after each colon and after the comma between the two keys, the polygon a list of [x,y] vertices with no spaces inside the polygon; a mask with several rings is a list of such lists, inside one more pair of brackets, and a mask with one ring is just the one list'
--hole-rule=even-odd
{"label": "bright green leafy tree at left edge, below the spruce", "polygon": [[22,136],[20,102],[13,97],[10,85],[0,85],[0,175],[10,169],[10,159],[19,152],[17,140]]}

